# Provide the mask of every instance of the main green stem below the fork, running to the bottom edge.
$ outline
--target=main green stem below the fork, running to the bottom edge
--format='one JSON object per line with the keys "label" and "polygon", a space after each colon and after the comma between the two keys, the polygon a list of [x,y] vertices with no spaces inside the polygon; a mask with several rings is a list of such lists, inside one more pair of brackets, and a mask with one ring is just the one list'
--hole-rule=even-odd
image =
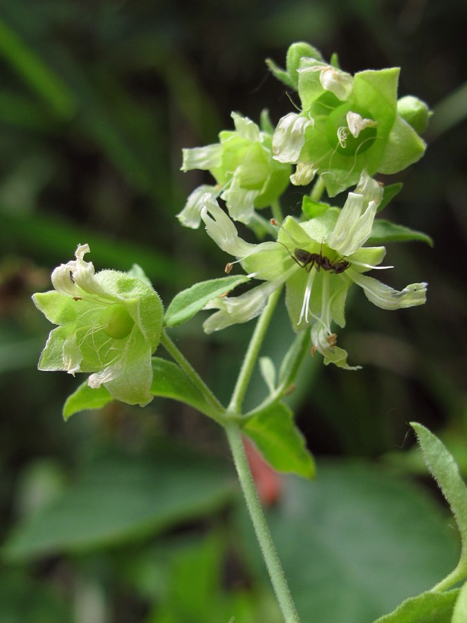
{"label": "main green stem below the fork, running to the bottom edge", "polygon": [[244,444],[241,439],[241,431],[237,422],[228,422],[228,424],[226,424],[226,433],[230,444],[230,450],[232,451],[232,457],[235,462],[235,468],[237,469],[241,490],[245,497],[246,506],[248,507],[248,512],[250,513],[250,518],[255,528],[256,538],[261,548],[282,616],[286,623],[300,623],[284,575],[284,570],[277,556],[271,532],[269,532],[269,527],[258,499],[255,483],[253,482],[250,466],[248,465],[248,459],[246,458]]}

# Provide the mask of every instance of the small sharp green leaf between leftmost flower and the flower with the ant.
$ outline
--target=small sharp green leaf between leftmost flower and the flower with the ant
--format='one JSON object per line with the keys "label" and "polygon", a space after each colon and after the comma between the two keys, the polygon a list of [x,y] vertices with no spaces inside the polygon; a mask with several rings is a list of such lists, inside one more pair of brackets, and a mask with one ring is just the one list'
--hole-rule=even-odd
{"label": "small sharp green leaf between leftmost flower and the flower with the ant", "polygon": [[210,279],[196,283],[191,288],[179,292],[169,307],[167,307],[165,325],[167,327],[176,327],[185,323],[201,311],[210,300],[230,292],[237,285],[249,280],[246,275]]}

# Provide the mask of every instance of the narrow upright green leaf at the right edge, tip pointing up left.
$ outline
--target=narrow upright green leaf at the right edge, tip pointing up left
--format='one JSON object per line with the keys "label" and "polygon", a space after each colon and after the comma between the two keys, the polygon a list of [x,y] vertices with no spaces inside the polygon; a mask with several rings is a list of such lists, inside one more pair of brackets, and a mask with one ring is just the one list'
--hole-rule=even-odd
{"label": "narrow upright green leaf at the right edge, tip pointing up left", "polygon": [[[434,480],[437,481],[443,496],[448,500],[461,535],[461,565],[467,571],[467,487],[459,473],[459,467],[443,443],[428,431],[428,428],[410,422],[423,452],[423,458]],[[465,577],[465,575],[464,575]]]}

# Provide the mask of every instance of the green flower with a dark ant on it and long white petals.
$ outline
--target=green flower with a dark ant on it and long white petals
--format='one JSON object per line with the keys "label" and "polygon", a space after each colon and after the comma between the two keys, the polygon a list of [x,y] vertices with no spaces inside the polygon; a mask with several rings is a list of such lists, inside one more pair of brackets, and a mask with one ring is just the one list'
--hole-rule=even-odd
{"label": "green flower with a dark ant on it and long white petals", "polygon": [[[347,364],[347,352],[337,346],[336,333],[331,329],[332,323],[345,326],[345,299],[352,285],[360,286],[367,298],[383,309],[425,303],[425,283],[397,291],[364,274],[390,268],[379,266],[385,255],[383,246],[363,246],[372,231],[382,192],[381,186],[364,173],[342,210],[329,208],[304,223],[286,217],[277,242],[261,244],[241,240],[214,197],[205,195],[201,217],[208,235],[223,251],[237,257],[250,278],[264,280],[241,296],[213,300],[206,309],[217,311],[205,321],[205,332],[255,318],[273,291],[286,283],[286,307],[293,329],[311,327],[313,352],[320,352],[324,363],[356,369]],[[233,263],[228,264],[229,270]]]}

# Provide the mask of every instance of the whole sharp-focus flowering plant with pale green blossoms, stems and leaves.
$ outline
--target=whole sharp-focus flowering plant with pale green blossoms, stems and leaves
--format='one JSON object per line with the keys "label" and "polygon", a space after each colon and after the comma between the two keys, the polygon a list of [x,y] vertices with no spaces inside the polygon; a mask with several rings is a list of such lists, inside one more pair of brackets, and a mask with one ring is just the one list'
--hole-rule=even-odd
{"label": "whole sharp-focus flowering plant with pale green blossoms, stems and leaves", "polygon": [[[242,435],[277,471],[313,478],[313,455],[286,402],[300,364],[319,354],[325,364],[358,369],[347,363],[348,354],[333,326],[345,327],[347,294],[354,285],[384,310],[425,303],[425,282],[398,290],[367,273],[392,268],[381,265],[390,242],[431,244],[427,235],[379,217],[400,186],[375,179],[399,172],[423,155],[425,143],[419,135],[430,112],[413,96],[398,99],[399,69],[352,76],[340,69],[336,57],[324,62],[305,43],[289,48],[286,69],[272,61],[268,65],[297,91],[300,111],[284,115],[276,127],[266,113],[259,125],[232,113],[235,130],[221,132],[219,143],[183,150],[182,170],[209,171],[215,183],[196,188],[178,220],[189,228],[203,222],[208,236],[235,258],[226,264],[227,276],[181,291],[164,311],[139,267],[128,273],[95,273],[93,264],[84,260],[89,246],[80,244],[75,260],[53,271],[55,289],[35,294],[33,300],[57,325],[39,369],[89,374],[66,401],[64,417],[113,399],[144,406],[152,397],[163,396],[194,406],[224,428],[284,621],[297,623],[299,615],[259,503]],[[287,187],[312,181],[300,214],[284,215],[280,199],[284,196],[282,205],[289,203]],[[329,204],[325,191],[327,199],[347,194]],[[242,237],[235,222],[250,231]],[[258,235],[258,242],[246,240],[251,233]],[[235,264],[244,273],[236,274]],[[253,280],[261,283],[250,287]],[[230,296],[239,285],[246,290]],[[271,359],[260,360],[267,395],[246,411],[244,397],[283,287],[295,337],[278,370]],[[214,310],[203,323],[207,334],[258,318],[227,406],[170,338],[172,329],[204,310]],[[154,355],[159,343],[173,362]],[[449,608],[452,621],[460,623],[467,612],[467,585],[448,589],[467,577],[467,489],[441,442],[420,424],[412,426],[455,514],[463,547],[454,571],[381,623],[421,621],[426,613],[434,620],[433,612],[446,613]]]}

